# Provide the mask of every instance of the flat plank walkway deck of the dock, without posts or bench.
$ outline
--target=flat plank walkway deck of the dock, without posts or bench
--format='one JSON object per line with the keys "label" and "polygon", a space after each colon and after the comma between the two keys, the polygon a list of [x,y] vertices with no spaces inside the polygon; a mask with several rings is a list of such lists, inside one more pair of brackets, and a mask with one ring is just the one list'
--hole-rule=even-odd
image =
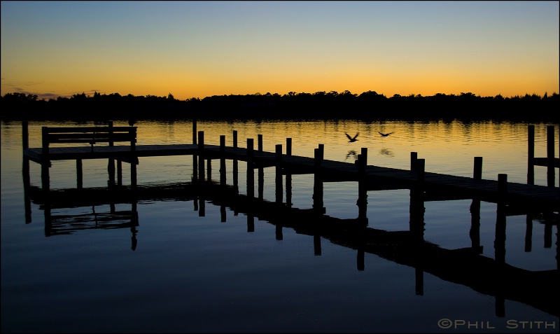
{"label": "flat plank walkway deck of the dock, without posts or bench", "polygon": [[[23,155],[29,160],[40,163],[45,159],[41,148],[25,148]],[[172,145],[137,145],[132,152],[129,146],[80,146],[52,147],[48,160],[79,160],[113,158],[130,162],[134,157],[155,157],[169,155],[200,155],[204,159],[225,159],[253,161],[255,167],[272,167],[277,163],[276,153],[253,151],[249,148],[221,147],[217,145],[172,144]],[[418,159],[421,160],[421,159]],[[359,167],[356,163],[321,160],[321,174],[324,181],[358,181]],[[281,155],[283,174],[314,174],[316,158],[297,155]],[[419,172],[367,165],[365,167],[367,188],[412,188],[419,183]],[[557,187],[537,186],[524,183],[507,182],[504,193],[500,193],[500,181],[475,179],[432,172],[423,172],[422,186],[428,195],[444,199],[479,198],[486,202],[505,199],[510,205],[551,208],[560,207],[560,189]]]}

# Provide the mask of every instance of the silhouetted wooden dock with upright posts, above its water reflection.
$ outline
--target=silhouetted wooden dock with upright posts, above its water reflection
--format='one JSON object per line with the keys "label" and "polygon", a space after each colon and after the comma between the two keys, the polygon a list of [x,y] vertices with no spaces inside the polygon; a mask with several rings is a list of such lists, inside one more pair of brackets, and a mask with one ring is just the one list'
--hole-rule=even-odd
{"label": "silhouetted wooden dock with upright posts, above its water reflection", "polygon": [[[25,125],[27,126],[27,125]],[[196,126],[193,126],[195,131]],[[531,133],[531,125],[529,126]],[[44,129],[43,129],[44,131]],[[534,133],[534,127],[533,127]],[[549,133],[554,134],[554,127]],[[24,131],[27,135],[27,130]],[[246,148],[237,147],[237,132],[234,131],[233,146],[225,146],[225,136],[221,136],[221,145],[204,144],[204,132],[197,132],[197,144],[173,145],[120,145],[120,146],[80,146],[80,147],[50,147],[48,153],[45,148],[28,148],[24,144],[23,156],[28,160],[43,166],[43,187],[49,188],[48,166],[52,160],[76,160],[78,176],[81,177],[80,166],[83,159],[112,159],[119,163],[131,163],[132,186],[136,186],[136,167],[138,158],[194,155],[200,157],[202,165],[204,160],[235,160],[248,162],[250,168],[276,167],[281,174],[315,174],[321,182],[329,181],[358,181],[361,190],[398,189],[420,187],[426,197],[432,200],[456,200],[477,198],[485,202],[503,201],[511,207],[531,211],[559,211],[560,189],[554,186],[554,168],[560,165],[559,158],[554,158],[554,137],[549,136],[547,158],[534,158],[529,154],[530,169],[534,165],[547,165],[549,167],[549,183],[552,186],[537,186],[531,184],[528,172],[528,184],[512,183],[507,181],[507,174],[498,174],[498,181],[482,179],[482,157],[475,157],[473,177],[454,176],[426,172],[425,161],[417,158],[411,152],[410,169],[395,169],[364,165],[367,161],[367,148],[362,148],[356,163],[339,162],[323,159],[324,146],[318,145],[313,158],[291,154],[291,139],[286,139],[286,149],[282,153],[282,145],[276,144],[275,152],[262,151],[262,135],[258,138],[258,150],[253,148],[253,139],[247,139]],[[193,132],[193,141],[195,134]],[[26,143],[26,139],[24,139]],[[534,141],[533,141],[534,144]],[[552,158],[551,158],[552,148]],[[531,151],[531,138],[529,140]],[[534,149],[533,149],[534,152]],[[120,165],[118,166],[120,172]],[[552,176],[550,175],[552,169]],[[110,171],[111,173],[111,171]],[[78,179],[78,184],[81,180]]]}

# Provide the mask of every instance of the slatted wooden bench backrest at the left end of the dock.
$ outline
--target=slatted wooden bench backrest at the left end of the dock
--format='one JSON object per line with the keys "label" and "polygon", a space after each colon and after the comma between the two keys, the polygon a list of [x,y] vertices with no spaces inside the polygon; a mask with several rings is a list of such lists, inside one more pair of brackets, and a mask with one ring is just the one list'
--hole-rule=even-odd
{"label": "slatted wooden bench backrest at the left end of the dock", "polygon": [[43,127],[43,153],[48,153],[50,144],[87,143],[93,145],[116,141],[130,142],[130,149],[136,149],[137,127]]}

